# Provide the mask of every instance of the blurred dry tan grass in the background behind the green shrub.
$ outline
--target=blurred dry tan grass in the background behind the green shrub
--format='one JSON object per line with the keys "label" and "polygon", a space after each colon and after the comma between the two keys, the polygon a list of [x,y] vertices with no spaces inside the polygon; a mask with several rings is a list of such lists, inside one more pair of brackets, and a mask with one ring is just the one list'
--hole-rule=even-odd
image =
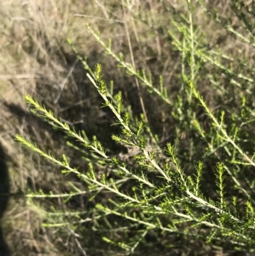
{"label": "blurred dry tan grass in the background behind the green shrub", "polygon": [[[205,36],[201,43],[203,50],[210,53],[215,50],[214,59],[206,60],[205,54],[201,61],[198,90],[211,109],[226,111],[228,123],[231,114],[240,110],[242,96],[247,95],[249,109],[254,107],[254,37],[252,28],[249,33],[249,26],[248,29],[244,26],[245,20],[251,27],[254,24],[254,1],[208,0],[202,6],[198,2],[193,1],[194,26],[198,28],[198,34]],[[235,4],[237,2],[241,7]],[[96,63],[102,64],[104,79],[108,84],[113,81],[115,93],[122,91],[124,105],[131,106],[134,116],[139,117],[144,112],[140,103],[143,98],[150,128],[159,137],[160,146],[164,147],[169,141],[179,145],[179,158],[187,172],[194,167],[205,144],[197,142],[196,134],[186,122],[186,114],[190,115],[189,100],[179,101],[180,112],[177,103],[169,106],[142,85],[138,92],[136,80],[117,67],[116,61],[105,54],[86,27],[89,23],[94,31],[100,31],[105,42],[111,38],[113,52],[122,52],[126,61],[134,61],[136,70],[143,68],[151,73],[154,84],[159,84],[159,75],[162,75],[169,99],[174,101],[184,84],[181,79],[182,52],[171,34],[178,35],[175,22],[184,22],[187,8],[184,0],[1,1],[0,142],[8,154],[13,193],[32,195],[43,190],[60,195],[72,190],[69,181],[84,190],[84,184],[77,177],[63,176],[59,167],[17,144],[13,140],[17,133],[36,141],[45,151],[50,150],[57,156],[65,153],[73,166],[85,168],[87,165],[81,158],[84,156],[82,147],[74,150],[66,146],[66,134],[54,130],[29,112],[24,94],[31,94],[77,131],[85,130],[89,138],[97,135],[111,154],[119,155],[122,151],[128,154],[125,148],[112,142],[111,135],[118,133],[120,128],[111,126],[115,121],[110,110],[100,109],[102,100],[66,38],[73,41],[80,56],[87,57],[91,68]],[[231,28],[240,34],[247,33],[247,40],[232,33]],[[179,39],[182,40],[181,35]],[[231,57],[222,60],[222,56]],[[203,111],[198,108],[196,114],[205,130],[209,129],[210,121]],[[245,129],[244,133],[249,137],[252,126]],[[246,150],[249,152],[249,148]],[[220,154],[224,157],[224,153]],[[132,164],[132,160],[127,161]],[[210,171],[215,172],[216,161],[215,157],[206,163],[205,187],[215,186],[208,181],[212,179]],[[56,216],[57,211],[92,209],[94,202],[88,200],[90,196],[79,195],[68,202],[64,197],[12,197],[4,219],[4,231],[13,255],[85,255],[79,245],[89,256],[124,255],[102,241],[103,230],[92,232],[91,224],[79,227],[83,237],[75,236],[68,225],[64,228],[42,225],[45,218],[49,218],[47,211],[50,209],[56,211]],[[63,216],[54,218],[64,222]],[[152,233],[146,239],[150,246],[142,246],[136,255],[229,255],[233,249],[201,246],[199,241],[193,241],[190,246],[175,235],[166,239],[164,234],[156,237]]]}

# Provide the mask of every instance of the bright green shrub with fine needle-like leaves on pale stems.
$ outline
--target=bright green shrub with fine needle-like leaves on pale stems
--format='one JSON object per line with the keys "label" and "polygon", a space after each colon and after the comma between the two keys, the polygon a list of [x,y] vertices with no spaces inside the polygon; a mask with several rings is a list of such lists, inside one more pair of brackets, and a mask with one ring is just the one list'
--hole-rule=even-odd
{"label": "bright green shrub with fine needle-like leaves on pale stems", "polygon": [[[180,54],[179,84],[174,89],[164,84],[163,76],[152,79],[151,74],[136,69],[121,53],[115,54],[111,41],[106,44],[88,24],[106,54],[136,79],[140,116],[124,105],[121,91],[114,94],[113,84],[106,84],[101,65],[92,70],[87,59],[78,54],[75,43],[68,40],[103,99],[102,107],[110,109],[114,124],[120,127],[119,134],[111,135],[113,142],[126,149],[127,158],[132,161],[123,157],[125,153],[113,153],[103,147],[96,135],[89,139],[85,131],[70,128],[25,95],[25,102],[35,114],[85,147],[89,162],[85,169],[71,167],[65,154],[56,158],[16,136],[25,147],[59,165],[62,174],[73,173],[84,182],[84,191],[72,184],[73,191],[63,197],[69,200],[88,193],[94,202],[87,211],[70,211],[62,218],[62,212],[46,213],[50,217],[45,219],[45,226],[69,225],[86,239],[81,226],[91,223],[86,226],[87,234],[99,232],[109,252],[121,249],[124,255],[171,255],[170,249],[181,250],[183,244],[186,253],[198,250],[198,244],[254,252],[254,67],[245,61],[242,52],[234,58],[208,44],[207,31],[201,32],[195,23],[198,6],[203,7],[209,20],[221,24],[247,47],[254,47],[254,31],[248,17],[254,20],[255,13],[244,1],[231,4],[238,20],[238,25],[233,26],[233,20],[224,20],[202,1],[187,0],[187,13],[178,20],[171,19],[168,30],[169,43]],[[143,20],[140,14],[133,15]],[[161,28],[158,30],[160,33]],[[140,84],[159,98],[158,107],[171,113],[175,121],[170,126],[174,139],[163,146],[158,134],[152,132]],[[41,196],[54,197],[43,192]],[[82,245],[82,239],[79,243]],[[82,250],[85,255],[86,248]]]}

